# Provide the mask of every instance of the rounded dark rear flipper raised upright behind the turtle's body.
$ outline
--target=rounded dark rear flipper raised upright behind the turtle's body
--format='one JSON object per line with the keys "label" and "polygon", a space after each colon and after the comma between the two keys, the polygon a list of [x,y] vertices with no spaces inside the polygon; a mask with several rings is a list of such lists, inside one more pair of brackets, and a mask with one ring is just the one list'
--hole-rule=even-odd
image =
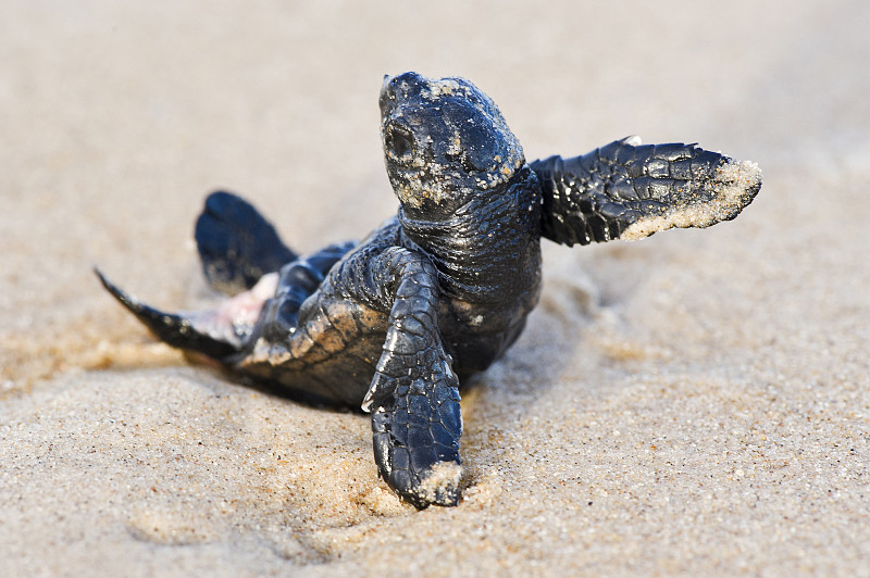
{"label": "rounded dark rear flipper raised upright behind the turtle's body", "polygon": [[195,237],[209,284],[231,296],[297,257],[257,209],[225,191],[206,199]]}

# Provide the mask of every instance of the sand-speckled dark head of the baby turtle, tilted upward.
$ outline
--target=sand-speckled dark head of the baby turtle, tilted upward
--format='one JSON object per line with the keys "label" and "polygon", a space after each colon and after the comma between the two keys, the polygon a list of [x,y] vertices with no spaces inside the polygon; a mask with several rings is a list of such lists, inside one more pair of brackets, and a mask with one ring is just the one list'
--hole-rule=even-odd
{"label": "sand-speckled dark head of the baby turtle, tilted upward", "polygon": [[525,163],[498,108],[464,78],[386,76],[381,138],[389,181],[413,218],[449,218]]}

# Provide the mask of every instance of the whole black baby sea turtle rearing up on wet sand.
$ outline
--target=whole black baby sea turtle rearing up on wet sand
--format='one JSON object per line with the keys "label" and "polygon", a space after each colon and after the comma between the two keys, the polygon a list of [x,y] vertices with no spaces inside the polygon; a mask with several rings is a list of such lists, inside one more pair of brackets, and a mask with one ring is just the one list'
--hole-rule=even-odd
{"label": "whole black baby sea turtle rearing up on wet sand", "polygon": [[751,162],[618,140],[526,163],[462,78],[387,76],[381,136],[400,204],[359,243],[298,256],[246,201],[214,192],[196,225],[213,311],[167,314],[105,288],[160,339],[316,403],[372,416],[381,476],[417,507],[460,493],[459,385],[517,339],[540,292],[540,238],[638,239],[734,218]]}

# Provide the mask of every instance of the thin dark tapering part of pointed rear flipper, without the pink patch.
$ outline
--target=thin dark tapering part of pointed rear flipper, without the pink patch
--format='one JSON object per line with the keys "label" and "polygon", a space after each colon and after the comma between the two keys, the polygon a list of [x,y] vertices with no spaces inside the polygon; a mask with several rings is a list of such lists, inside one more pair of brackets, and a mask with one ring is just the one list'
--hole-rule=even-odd
{"label": "thin dark tapering part of pointed rear flipper, without the pink patch", "polygon": [[98,268],[95,267],[94,273],[97,274],[97,277],[99,277],[105,290],[109,291],[119,303],[136,315],[136,317],[161,341],[174,348],[203,353],[215,360],[225,360],[238,353],[238,344],[231,343],[225,339],[214,337],[195,327],[194,316],[164,313],[156,310],[121,290]]}

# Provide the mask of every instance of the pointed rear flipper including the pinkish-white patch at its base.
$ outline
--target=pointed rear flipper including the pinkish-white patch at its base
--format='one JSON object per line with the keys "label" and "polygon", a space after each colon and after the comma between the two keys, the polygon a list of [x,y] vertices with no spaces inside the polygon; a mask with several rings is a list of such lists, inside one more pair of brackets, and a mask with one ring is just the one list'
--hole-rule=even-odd
{"label": "pointed rear flipper including the pinkish-white patch at its base", "polygon": [[[258,306],[257,297],[252,296],[246,310],[240,300],[247,296],[243,294],[216,310],[196,313],[165,313],[127,294],[98,269],[94,271],[112,297],[136,315],[161,341],[174,348],[196,351],[222,362],[226,362],[239,353],[246,334],[250,332],[259,316],[260,307],[262,307],[262,301]],[[263,285],[266,285],[269,280],[271,279],[264,279]],[[258,292],[257,288],[251,292]]]}

